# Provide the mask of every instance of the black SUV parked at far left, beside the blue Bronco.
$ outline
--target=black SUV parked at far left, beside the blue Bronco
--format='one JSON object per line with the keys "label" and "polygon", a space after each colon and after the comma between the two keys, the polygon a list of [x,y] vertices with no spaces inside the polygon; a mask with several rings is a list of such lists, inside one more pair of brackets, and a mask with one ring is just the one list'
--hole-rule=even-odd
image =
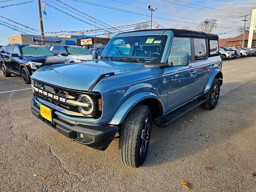
{"label": "black SUV parked at far left, beside the blue Bronco", "polygon": [[5,77],[11,74],[22,76],[25,84],[30,84],[30,75],[42,65],[66,63],[48,48],[30,44],[8,44],[1,49],[0,64]]}

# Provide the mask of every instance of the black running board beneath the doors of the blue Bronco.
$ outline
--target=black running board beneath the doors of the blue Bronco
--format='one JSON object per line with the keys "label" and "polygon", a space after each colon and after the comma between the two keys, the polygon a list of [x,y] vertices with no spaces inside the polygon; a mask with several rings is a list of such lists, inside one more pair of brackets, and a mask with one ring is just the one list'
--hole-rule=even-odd
{"label": "black running board beneath the doors of the blue Bronco", "polygon": [[162,118],[159,118],[156,120],[156,125],[159,127],[166,127],[168,126],[172,121],[174,121],[176,118],[182,116],[186,112],[192,110],[193,108],[202,105],[204,102],[206,102],[206,99],[204,98],[196,98],[192,100],[191,102],[188,102],[184,106],[181,106],[180,108],[166,114]]}

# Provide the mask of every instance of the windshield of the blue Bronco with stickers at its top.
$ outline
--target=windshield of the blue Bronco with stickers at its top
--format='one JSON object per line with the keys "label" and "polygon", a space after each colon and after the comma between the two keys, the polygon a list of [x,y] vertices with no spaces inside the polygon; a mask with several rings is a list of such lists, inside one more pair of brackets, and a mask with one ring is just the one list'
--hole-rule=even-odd
{"label": "windshield of the blue Bronco with stickers at its top", "polygon": [[101,57],[113,60],[125,58],[138,59],[141,62],[161,62],[167,36],[130,36],[110,40]]}

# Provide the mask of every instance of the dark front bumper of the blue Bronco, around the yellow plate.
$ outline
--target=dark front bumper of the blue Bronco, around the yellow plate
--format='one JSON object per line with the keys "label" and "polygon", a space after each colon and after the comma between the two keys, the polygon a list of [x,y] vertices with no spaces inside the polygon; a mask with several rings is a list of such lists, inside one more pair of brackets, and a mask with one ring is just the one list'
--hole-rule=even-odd
{"label": "dark front bumper of the blue Bronco, around the yellow plate", "polygon": [[[88,125],[79,124],[78,122],[70,121],[61,116],[54,115],[52,122],[43,118],[40,114],[40,106],[36,103],[35,99],[30,100],[32,114],[72,140],[84,144],[94,149],[106,150],[109,144],[114,139],[118,130],[117,126],[112,125]],[[83,138],[78,137],[78,133],[83,134]]]}

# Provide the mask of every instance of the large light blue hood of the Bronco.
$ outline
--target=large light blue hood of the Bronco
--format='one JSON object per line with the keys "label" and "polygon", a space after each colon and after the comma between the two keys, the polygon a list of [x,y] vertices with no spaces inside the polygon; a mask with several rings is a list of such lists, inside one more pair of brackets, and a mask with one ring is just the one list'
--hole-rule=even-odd
{"label": "large light blue hood of the Bronco", "polygon": [[148,66],[131,62],[88,61],[42,66],[32,74],[32,78],[63,88],[88,90],[102,74],[114,72],[118,75],[145,68]]}

